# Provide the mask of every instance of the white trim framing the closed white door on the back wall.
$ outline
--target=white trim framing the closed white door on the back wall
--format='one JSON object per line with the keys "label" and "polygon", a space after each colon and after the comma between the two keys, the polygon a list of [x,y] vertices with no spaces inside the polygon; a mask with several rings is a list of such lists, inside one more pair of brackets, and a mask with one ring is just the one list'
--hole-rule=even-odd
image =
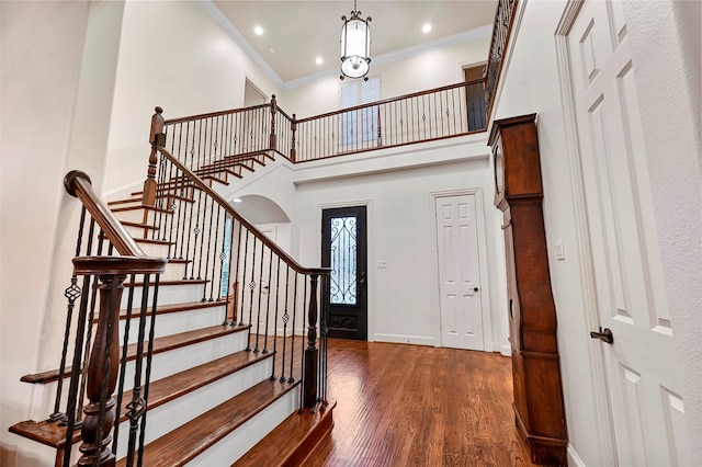
{"label": "white trim framing the closed white door on the back wall", "polygon": [[478,240],[478,275],[480,277],[480,306],[483,308],[483,343],[484,352],[499,352],[499,341],[495,341],[492,332],[492,314],[490,312],[490,284],[489,284],[489,271],[487,266],[487,239],[485,234],[485,208],[483,203],[483,189],[463,189],[463,190],[445,190],[429,193],[429,212],[431,213],[431,296],[429,303],[431,304],[431,322],[432,331],[434,335],[434,342],[437,346],[443,346],[441,335],[441,294],[439,292],[439,239],[437,238],[437,200],[448,196],[475,196],[475,226]]}

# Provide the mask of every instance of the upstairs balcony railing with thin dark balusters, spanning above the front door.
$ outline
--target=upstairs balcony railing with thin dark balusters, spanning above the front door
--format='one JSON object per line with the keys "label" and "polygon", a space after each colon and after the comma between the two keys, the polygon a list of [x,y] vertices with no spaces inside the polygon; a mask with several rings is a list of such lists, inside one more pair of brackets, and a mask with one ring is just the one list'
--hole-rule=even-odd
{"label": "upstairs balcony railing with thin dark balusters, spanning above the front door", "polygon": [[189,169],[207,175],[235,170],[245,161],[265,163],[275,155],[308,162],[484,132],[484,84],[460,82],[301,119],[280,109],[275,95],[268,104],[183,118],[163,119],[157,109],[155,117],[163,127],[160,145]]}

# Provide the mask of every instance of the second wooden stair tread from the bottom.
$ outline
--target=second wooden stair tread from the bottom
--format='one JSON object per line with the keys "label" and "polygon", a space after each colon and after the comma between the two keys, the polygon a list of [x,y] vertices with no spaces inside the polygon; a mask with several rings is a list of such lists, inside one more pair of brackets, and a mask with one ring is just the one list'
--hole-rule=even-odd
{"label": "second wooden stair tread from the bottom", "polygon": [[[263,380],[144,447],[149,467],[183,466],[292,390],[298,383]],[[117,462],[124,466],[125,459]]]}

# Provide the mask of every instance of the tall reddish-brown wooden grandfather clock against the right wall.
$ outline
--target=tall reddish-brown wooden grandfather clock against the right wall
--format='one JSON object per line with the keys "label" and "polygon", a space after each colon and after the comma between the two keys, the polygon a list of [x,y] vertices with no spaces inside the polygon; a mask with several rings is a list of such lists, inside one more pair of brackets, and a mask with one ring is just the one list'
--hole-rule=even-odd
{"label": "tall reddish-brown wooden grandfather clock against the right wall", "polygon": [[495,206],[503,213],[514,418],[532,462],[567,465],[535,114],[495,121]]}

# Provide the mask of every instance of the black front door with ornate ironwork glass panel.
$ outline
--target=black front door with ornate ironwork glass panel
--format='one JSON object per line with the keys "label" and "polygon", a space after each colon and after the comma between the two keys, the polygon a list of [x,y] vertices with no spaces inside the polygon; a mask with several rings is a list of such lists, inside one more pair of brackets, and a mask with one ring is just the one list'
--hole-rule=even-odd
{"label": "black front door with ornate ironwork glass panel", "polygon": [[331,267],[329,337],[367,339],[365,206],[321,213],[321,265]]}

